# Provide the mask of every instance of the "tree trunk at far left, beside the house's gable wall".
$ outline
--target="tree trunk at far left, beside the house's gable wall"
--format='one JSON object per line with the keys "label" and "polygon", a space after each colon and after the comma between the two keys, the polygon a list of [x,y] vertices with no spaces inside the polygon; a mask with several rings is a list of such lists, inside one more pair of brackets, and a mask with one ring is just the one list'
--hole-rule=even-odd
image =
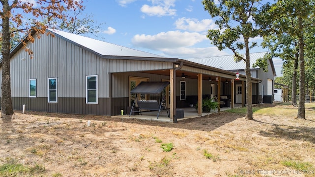
{"label": "tree trunk at far left, beside the house's gable wall", "polygon": [[3,2],[4,15],[2,16],[2,83],[1,83],[1,116],[12,115],[13,106],[11,98],[11,76],[10,76],[10,7],[8,1]]}

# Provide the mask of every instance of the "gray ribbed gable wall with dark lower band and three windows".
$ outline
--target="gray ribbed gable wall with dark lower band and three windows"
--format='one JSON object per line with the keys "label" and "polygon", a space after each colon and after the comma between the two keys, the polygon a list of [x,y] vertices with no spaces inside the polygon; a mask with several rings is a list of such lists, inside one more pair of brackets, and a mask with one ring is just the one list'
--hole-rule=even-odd
{"label": "gray ribbed gable wall with dark lower band and three windows", "polygon": [[[106,106],[110,105],[106,59],[57,36],[35,36],[35,42],[28,42],[26,47],[33,51],[33,59],[21,49],[10,61],[14,109],[27,104],[26,108],[34,111],[110,114]],[[97,105],[85,104],[87,75],[98,75]],[[48,103],[48,78],[54,77],[58,78],[58,103]],[[29,79],[37,80],[36,98],[28,97]]]}

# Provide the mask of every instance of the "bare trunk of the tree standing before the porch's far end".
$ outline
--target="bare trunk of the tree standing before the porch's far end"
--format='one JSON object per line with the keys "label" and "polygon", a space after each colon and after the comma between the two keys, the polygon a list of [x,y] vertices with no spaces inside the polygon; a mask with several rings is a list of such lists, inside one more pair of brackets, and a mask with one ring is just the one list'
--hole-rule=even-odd
{"label": "bare trunk of the tree standing before the porch's far end", "polygon": [[246,91],[246,118],[248,120],[252,120],[252,82],[251,82],[251,72],[250,72],[250,49],[248,47],[249,41],[248,38],[244,37],[244,43],[245,43],[245,51],[246,51],[246,68],[245,68],[245,73],[246,73],[246,86],[245,86],[245,91]]}

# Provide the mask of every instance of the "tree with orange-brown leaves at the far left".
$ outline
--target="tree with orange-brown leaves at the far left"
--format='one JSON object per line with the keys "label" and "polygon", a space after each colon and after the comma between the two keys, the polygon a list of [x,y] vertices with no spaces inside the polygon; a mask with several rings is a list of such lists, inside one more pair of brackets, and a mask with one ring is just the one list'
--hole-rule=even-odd
{"label": "tree with orange-brown leaves at the far left", "polygon": [[[11,98],[11,76],[10,76],[10,49],[12,36],[16,33],[27,34],[34,31],[38,34],[45,33],[46,26],[41,20],[48,22],[55,18],[65,18],[65,13],[70,9],[82,9],[82,1],[76,0],[36,0],[31,3],[24,0],[0,0],[0,24],[2,27],[2,83],[1,83],[1,116],[12,115],[13,106]],[[32,16],[30,21],[27,16]],[[14,30],[10,30],[14,29]],[[39,36],[39,35],[38,35]],[[34,42],[32,35],[27,40]],[[24,43],[24,46],[26,44]],[[30,49],[25,50],[32,55]],[[32,58],[32,56],[31,56]]]}

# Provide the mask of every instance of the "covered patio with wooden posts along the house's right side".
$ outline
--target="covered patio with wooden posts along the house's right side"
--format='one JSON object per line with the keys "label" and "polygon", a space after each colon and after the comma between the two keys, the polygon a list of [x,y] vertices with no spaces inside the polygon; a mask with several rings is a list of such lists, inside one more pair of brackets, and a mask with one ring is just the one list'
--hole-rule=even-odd
{"label": "covered patio with wooden posts along the house's right side", "polygon": [[[246,104],[246,76],[232,71],[182,59],[161,60],[145,58],[143,61],[138,59],[110,59],[109,66],[109,78],[112,85],[121,88],[110,90],[111,100],[114,103],[111,104],[111,116],[113,117],[141,118],[176,123],[183,119],[209,114],[203,112],[201,107],[198,107],[197,110],[195,109],[195,105],[202,105],[202,101],[206,98],[212,99],[216,97],[215,101],[220,103],[218,109],[215,110],[216,112],[244,107]],[[115,68],[114,66],[120,67]],[[158,101],[160,99],[157,96],[150,93],[132,93],[132,89],[141,82],[165,81],[169,82],[169,85],[163,90],[169,118],[164,110],[161,111],[159,116],[157,116],[158,113],[152,114],[158,110],[156,107],[148,115],[144,112],[142,115],[129,117],[130,109],[132,110],[134,101],[137,101],[135,100],[136,95],[139,96],[139,100],[157,101],[160,103]],[[252,100],[258,99],[259,82],[261,82],[260,79],[251,77],[249,87],[251,95],[253,95]],[[189,107],[190,105],[193,105],[193,107]],[[139,107],[138,103],[135,106]],[[179,113],[177,109],[184,110],[184,118],[177,115]],[[121,111],[123,111],[124,115],[121,115]]]}

